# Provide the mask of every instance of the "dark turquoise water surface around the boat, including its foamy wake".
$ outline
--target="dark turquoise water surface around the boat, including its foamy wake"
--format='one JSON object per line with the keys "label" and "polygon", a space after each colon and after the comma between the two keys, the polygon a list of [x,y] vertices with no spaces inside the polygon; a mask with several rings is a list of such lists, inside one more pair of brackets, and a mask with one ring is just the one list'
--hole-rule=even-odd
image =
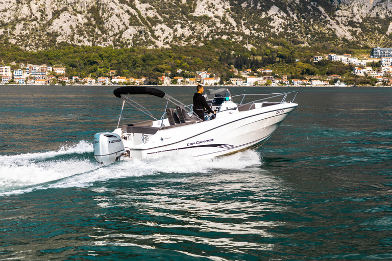
{"label": "dark turquoise water surface around the boat, including its foamy wake", "polygon": [[256,151],[102,167],[113,89],[0,86],[1,260],[392,260],[392,89],[300,87]]}

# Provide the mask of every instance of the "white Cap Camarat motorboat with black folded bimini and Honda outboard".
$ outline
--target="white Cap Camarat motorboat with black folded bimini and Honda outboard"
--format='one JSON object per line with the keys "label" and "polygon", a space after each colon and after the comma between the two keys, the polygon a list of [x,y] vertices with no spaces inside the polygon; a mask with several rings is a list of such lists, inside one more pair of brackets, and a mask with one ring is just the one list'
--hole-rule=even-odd
{"label": "white Cap Camarat motorboat with black folded bimini and Honda outboard", "polygon": [[[94,157],[101,164],[173,152],[186,153],[196,159],[207,159],[259,147],[298,106],[293,102],[298,91],[231,96],[228,89],[210,89],[205,90],[204,95],[215,113],[206,115],[206,120],[202,121],[193,115],[192,106],[155,88],[120,87],[113,93],[123,100],[117,128],[111,133],[94,135]],[[131,99],[135,95],[153,95],[166,99],[166,108],[161,118],[155,118]],[[288,95],[293,96],[290,101],[286,101]],[[244,102],[255,96],[259,99]],[[235,103],[233,98],[242,100]],[[175,108],[170,108],[169,102]],[[125,103],[153,120],[120,125]]]}

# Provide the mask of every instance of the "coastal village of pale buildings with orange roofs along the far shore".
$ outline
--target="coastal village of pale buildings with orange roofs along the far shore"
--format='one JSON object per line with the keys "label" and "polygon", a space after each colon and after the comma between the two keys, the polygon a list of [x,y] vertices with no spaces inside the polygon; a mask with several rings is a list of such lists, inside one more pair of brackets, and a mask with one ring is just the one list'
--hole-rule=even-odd
{"label": "coastal village of pale buildings with orange roofs along the far shore", "polygon": [[[370,58],[372,60],[359,60],[350,54],[336,55],[315,55],[312,62],[317,63],[322,60],[350,64],[353,67],[352,74],[358,76],[374,77],[378,84],[391,85],[392,79],[392,48],[372,48]],[[296,60],[300,62],[300,60]],[[373,67],[370,64],[380,62],[381,67]],[[313,79],[288,79],[287,75],[278,75],[272,69],[259,68],[257,71],[231,68],[230,72],[235,77],[230,81],[221,81],[220,77],[208,71],[188,72],[178,69],[172,73],[166,71],[158,77],[159,85],[235,85],[235,86],[346,86],[344,77],[337,74],[313,77]],[[84,77],[77,75],[65,76],[65,67],[52,67],[48,65],[29,65],[24,69],[11,70],[11,66],[0,65],[0,77],[2,85],[145,85],[148,82],[146,77],[141,79],[127,78],[116,74],[115,70],[107,72],[103,77]],[[195,77],[183,77],[181,75],[195,75]],[[318,79],[314,79],[318,78]],[[320,79],[322,78],[322,79]]]}

